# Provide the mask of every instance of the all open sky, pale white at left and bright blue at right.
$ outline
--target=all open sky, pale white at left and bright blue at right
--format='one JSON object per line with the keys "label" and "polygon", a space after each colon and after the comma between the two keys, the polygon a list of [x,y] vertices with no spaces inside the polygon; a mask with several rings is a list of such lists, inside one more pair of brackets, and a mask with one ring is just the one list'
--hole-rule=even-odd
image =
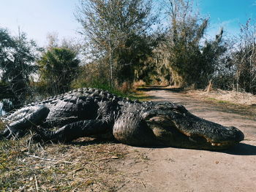
{"label": "all open sky, pale white at left and bright blue at right", "polygon": [[[162,1],[162,0],[154,0]],[[208,36],[214,37],[220,27],[228,35],[238,34],[248,18],[256,19],[256,0],[194,0],[203,17],[210,18]],[[59,38],[81,38],[80,23],[74,12],[78,0],[0,0],[0,27],[18,35],[18,28],[40,46],[49,33]]]}

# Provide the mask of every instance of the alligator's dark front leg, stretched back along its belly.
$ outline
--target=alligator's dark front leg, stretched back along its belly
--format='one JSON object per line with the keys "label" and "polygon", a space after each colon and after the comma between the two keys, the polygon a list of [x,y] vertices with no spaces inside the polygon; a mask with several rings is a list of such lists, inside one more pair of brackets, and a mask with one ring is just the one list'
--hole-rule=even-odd
{"label": "alligator's dark front leg, stretched back along its belly", "polygon": [[35,140],[52,142],[70,142],[80,137],[106,134],[112,130],[111,123],[106,120],[80,120],[69,123],[59,128],[58,131],[48,131],[47,129],[37,130]]}

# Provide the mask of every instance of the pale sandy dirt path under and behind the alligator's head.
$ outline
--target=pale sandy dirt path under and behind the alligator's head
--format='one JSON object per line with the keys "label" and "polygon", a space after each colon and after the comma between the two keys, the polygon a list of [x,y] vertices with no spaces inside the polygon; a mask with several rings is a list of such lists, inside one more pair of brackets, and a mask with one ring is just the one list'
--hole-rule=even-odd
{"label": "pale sandy dirt path under and behind the alligator's head", "polygon": [[[197,101],[182,93],[151,90],[153,101],[173,101],[206,120],[236,126],[245,140],[231,150],[211,152],[173,147],[127,146],[130,152],[118,170],[129,175],[118,191],[255,191],[256,122],[225,111],[214,104]],[[135,158],[135,153],[140,154]],[[137,160],[136,160],[137,159]]]}

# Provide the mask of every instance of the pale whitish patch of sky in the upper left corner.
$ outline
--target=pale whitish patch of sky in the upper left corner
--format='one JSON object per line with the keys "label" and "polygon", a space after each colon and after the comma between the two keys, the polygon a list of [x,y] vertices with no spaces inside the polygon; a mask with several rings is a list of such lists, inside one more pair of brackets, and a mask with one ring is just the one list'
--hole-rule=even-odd
{"label": "pale whitish patch of sky in the upper left corner", "polygon": [[58,33],[59,37],[78,37],[80,24],[74,12],[78,0],[0,0],[0,27],[12,34],[25,32],[39,45],[46,44],[46,36]]}

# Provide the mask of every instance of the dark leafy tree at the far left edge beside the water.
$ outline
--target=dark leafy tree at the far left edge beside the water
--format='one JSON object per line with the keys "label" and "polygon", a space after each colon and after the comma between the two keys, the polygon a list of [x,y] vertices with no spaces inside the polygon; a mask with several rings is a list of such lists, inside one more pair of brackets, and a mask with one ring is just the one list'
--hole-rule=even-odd
{"label": "dark leafy tree at the far left edge beside the water", "polygon": [[12,37],[7,29],[0,28],[1,82],[5,92],[12,97],[14,107],[19,107],[31,96],[31,74],[37,71],[34,62],[38,47],[25,33]]}

